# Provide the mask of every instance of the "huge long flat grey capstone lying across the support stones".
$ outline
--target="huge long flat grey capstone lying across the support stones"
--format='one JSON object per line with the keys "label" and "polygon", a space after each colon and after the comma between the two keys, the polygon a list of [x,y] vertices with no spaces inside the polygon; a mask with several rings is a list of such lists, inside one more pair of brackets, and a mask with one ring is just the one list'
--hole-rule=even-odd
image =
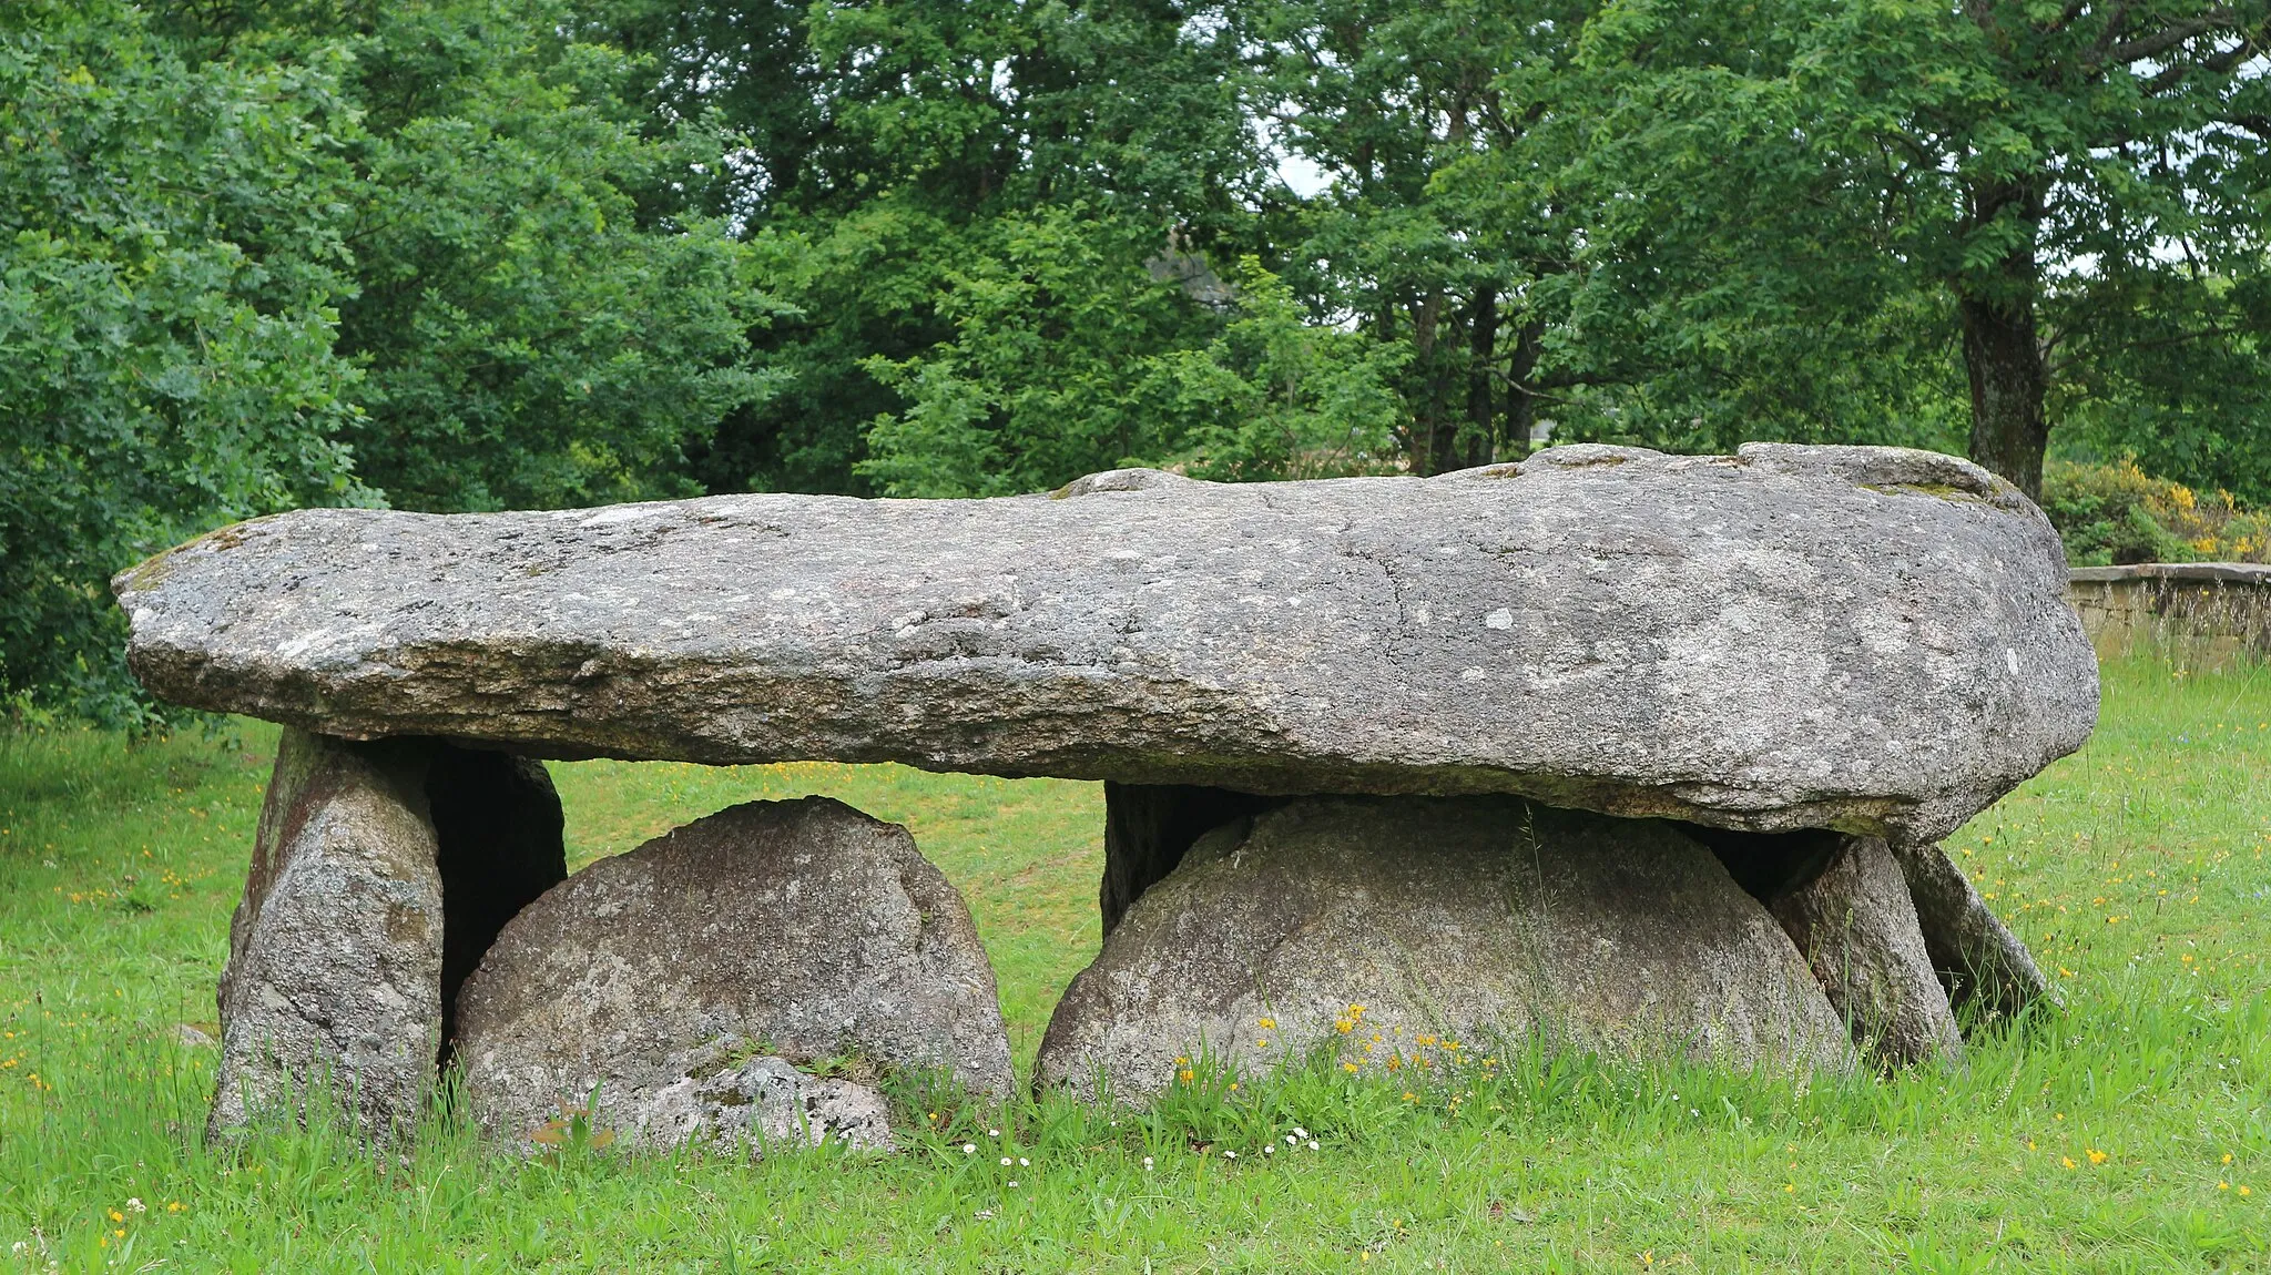
{"label": "huge long flat grey capstone lying across the support stones", "polygon": [[164,699],[534,755],[1508,792],[1933,839],[2096,715],[2058,535],[1949,456],[1558,447],[1061,497],[300,510],[116,588]]}

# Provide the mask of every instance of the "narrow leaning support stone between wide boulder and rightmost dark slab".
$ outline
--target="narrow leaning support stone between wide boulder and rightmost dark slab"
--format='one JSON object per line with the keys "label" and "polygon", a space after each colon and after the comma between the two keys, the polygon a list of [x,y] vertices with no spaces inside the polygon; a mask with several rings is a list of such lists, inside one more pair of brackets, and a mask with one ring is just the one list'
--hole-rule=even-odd
{"label": "narrow leaning support stone between wide boulder and rightmost dark slab", "polygon": [[1901,864],[1878,837],[1842,837],[1821,871],[1769,903],[1853,1044],[1880,1066],[1962,1057],[1949,994],[1917,930]]}

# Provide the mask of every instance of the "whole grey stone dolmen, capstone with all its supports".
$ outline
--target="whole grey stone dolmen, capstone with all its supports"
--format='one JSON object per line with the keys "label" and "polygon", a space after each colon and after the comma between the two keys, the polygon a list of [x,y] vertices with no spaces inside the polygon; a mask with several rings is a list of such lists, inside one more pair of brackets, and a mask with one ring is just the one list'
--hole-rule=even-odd
{"label": "whole grey stone dolmen, capstone with all its supports", "polygon": [[[1574,445],[1433,479],[1117,470],[227,526],[114,581],[161,699],[286,726],[211,1132],[450,1075],[518,1146],[893,1146],[1008,1096],[904,828],[747,803],[575,876],[543,758],[1104,780],[1104,948],[1033,1082],[1578,1048],[1958,1064],[2048,996],[1939,839],[2096,719],[2042,513],[1887,447]],[[1197,1059],[1197,1062],[1195,1062]]]}

